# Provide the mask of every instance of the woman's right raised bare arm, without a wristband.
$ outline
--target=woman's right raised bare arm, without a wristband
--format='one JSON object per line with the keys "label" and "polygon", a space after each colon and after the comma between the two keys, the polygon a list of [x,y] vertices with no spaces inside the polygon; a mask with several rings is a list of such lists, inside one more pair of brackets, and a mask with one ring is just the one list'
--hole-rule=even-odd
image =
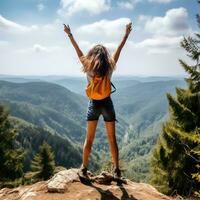
{"label": "woman's right raised bare arm, without a wristband", "polygon": [[120,53],[121,53],[121,50],[122,50],[124,44],[126,43],[126,40],[127,40],[128,36],[129,36],[131,30],[132,30],[132,22],[126,25],[126,32],[125,32],[125,35],[124,35],[124,37],[123,37],[121,43],[119,44],[117,50],[116,50],[115,53],[113,54],[113,59],[114,59],[115,63],[116,63],[116,62],[118,61],[118,59],[119,59],[119,55],[120,55]]}

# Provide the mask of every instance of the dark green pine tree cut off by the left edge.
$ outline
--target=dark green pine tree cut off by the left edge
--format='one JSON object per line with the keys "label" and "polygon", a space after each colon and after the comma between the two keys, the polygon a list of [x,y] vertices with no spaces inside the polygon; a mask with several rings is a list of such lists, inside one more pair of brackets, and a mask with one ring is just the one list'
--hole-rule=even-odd
{"label": "dark green pine tree cut off by the left edge", "polygon": [[8,120],[8,111],[0,105],[0,182],[13,181],[23,175],[25,154],[16,148],[16,130]]}

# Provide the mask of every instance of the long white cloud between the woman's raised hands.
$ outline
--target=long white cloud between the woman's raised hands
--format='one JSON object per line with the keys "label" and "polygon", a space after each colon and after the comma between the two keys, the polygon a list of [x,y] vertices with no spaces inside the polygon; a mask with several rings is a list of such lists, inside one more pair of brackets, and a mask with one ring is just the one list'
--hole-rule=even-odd
{"label": "long white cloud between the woman's raised hands", "polygon": [[76,32],[84,36],[98,38],[109,38],[114,40],[122,33],[125,33],[125,25],[130,22],[129,18],[119,18],[116,20],[100,20],[92,24],[79,27]]}

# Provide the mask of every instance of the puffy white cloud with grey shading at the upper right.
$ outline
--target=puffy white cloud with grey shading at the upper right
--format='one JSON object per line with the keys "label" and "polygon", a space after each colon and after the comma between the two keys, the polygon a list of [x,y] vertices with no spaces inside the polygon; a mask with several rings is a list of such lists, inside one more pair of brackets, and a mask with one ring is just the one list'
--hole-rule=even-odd
{"label": "puffy white cloud with grey shading at the upper right", "polygon": [[146,21],[145,30],[158,35],[188,33],[188,13],[183,7],[168,10],[164,17],[152,17]]}

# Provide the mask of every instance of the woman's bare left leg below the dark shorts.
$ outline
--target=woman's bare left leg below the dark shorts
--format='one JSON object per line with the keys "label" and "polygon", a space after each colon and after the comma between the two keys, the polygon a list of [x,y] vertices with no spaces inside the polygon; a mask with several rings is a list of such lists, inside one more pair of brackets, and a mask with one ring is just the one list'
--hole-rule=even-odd
{"label": "woman's bare left leg below the dark shorts", "polygon": [[92,144],[94,141],[97,123],[98,123],[98,120],[87,121],[87,132],[86,132],[85,143],[83,146],[84,167],[88,166],[89,155],[90,155]]}

